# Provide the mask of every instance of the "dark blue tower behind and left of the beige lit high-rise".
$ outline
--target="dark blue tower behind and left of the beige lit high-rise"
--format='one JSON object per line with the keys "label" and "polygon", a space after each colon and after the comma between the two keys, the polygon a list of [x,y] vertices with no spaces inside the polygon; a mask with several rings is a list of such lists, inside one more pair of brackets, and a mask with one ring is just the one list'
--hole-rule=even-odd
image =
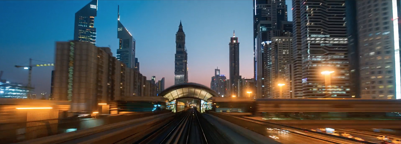
{"label": "dark blue tower behind and left of the beige lit high-rise", "polygon": [[[271,37],[288,35],[291,26],[287,21],[285,0],[253,0],[254,77],[258,98],[270,97],[269,50],[265,51]],[[290,25],[289,25],[290,24]],[[291,30],[290,30],[291,31]],[[266,53],[267,52],[267,53]]]}

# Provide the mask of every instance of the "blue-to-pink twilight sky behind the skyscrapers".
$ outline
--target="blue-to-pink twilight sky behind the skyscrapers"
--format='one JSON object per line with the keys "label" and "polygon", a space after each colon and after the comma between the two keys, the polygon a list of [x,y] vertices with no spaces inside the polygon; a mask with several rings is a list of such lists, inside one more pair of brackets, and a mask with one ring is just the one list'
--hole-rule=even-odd
{"label": "blue-to-pink twilight sky behind the skyscrapers", "polygon": [[[2,79],[27,83],[29,58],[54,62],[55,41],[73,39],[75,12],[90,0],[0,0],[0,70]],[[292,20],[291,0],[288,19]],[[140,72],[174,85],[175,34],[180,20],[186,34],[189,82],[210,87],[214,69],[229,75],[229,40],[239,37],[240,75],[253,77],[253,2],[251,0],[99,0],[96,46],[115,56],[117,5],[120,21],[136,39]],[[33,64],[42,62],[34,61]],[[49,67],[32,69],[35,93],[50,93]]]}

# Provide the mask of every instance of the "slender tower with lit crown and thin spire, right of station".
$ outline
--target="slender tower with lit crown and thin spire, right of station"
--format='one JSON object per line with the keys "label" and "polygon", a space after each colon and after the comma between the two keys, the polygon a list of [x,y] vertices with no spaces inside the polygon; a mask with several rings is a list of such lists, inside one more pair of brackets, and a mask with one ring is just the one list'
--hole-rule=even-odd
{"label": "slender tower with lit crown and thin spire, right of station", "polygon": [[229,43],[229,68],[230,68],[230,95],[238,95],[238,80],[241,79],[239,75],[239,42],[238,37],[235,37],[235,31],[233,37],[230,37]]}

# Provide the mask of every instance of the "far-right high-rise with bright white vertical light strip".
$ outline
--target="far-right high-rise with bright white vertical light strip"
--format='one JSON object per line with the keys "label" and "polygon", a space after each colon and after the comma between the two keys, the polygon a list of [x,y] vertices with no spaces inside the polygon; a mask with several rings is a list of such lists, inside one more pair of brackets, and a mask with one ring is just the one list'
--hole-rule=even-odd
{"label": "far-right high-rise with bright white vertical light strip", "polygon": [[356,1],[363,99],[400,99],[400,1]]}

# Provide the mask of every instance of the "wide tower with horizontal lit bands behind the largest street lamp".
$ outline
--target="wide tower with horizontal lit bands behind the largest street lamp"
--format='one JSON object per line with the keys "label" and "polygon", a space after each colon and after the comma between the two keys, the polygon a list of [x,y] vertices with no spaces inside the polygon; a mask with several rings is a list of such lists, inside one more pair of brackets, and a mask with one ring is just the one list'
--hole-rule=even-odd
{"label": "wide tower with horizontal lit bands behind the largest street lamp", "polygon": [[350,98],[345,0],[294,2],[300,2],[293,23],[295,32],[300,27],[294,36],[300,36],[295,50],[300,46],[302,65],[294,67],[302,69],[302,97]]}

